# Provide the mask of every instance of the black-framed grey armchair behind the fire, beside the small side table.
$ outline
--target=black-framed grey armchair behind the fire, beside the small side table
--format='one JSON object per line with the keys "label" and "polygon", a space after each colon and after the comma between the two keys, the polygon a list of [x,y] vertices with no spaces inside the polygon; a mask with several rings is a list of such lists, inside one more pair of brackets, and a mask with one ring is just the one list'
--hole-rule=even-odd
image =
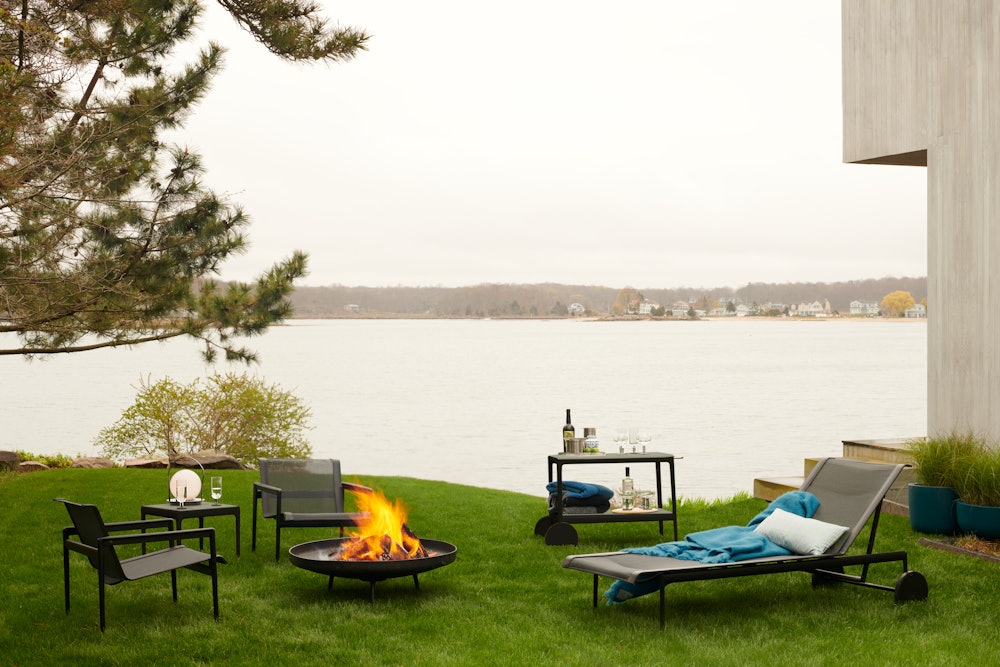
{"label": "black-framed grey armchair behind the fire, beside the small side table", "polygon": [[253,485],[253,537],[257,550],[257,501],[261,516],[274,519],[274,560],[281,556],[282,528],[344,528],[364,515],[344,509],[344,491],[371,492],[367,486],[344,482],[336,459],[261,459],[260,481]]}

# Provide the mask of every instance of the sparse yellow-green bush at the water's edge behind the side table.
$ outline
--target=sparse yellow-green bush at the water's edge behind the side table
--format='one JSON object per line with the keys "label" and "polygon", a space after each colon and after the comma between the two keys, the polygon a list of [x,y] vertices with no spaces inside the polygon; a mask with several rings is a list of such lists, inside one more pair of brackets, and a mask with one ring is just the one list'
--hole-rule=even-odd
{"label": "sparse yellow-green bush at the water's edge behind the side table", "polygon": [[227,373],[182,385],[140,383],[135,403],[97,435],[105,456],[169,456],[206,449],[242,463],[261,457],[304,458],[311,412],[294,394],[247,374]]}

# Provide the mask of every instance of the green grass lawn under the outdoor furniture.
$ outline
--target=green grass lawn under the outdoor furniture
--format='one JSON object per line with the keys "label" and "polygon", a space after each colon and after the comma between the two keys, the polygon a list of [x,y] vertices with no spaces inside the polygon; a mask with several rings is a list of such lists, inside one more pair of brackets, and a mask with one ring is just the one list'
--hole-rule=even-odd
{"label": "green grass lawn under the outdoor furniture", "polygon": [[[656,524],[578,526],[576,547],[545,546],[533,534],[541,498],[408,478],[359,481],[400,498],[418,536],[458,546],[457,560],[421,575],[368,584],[274,563],[273,524],[250,551],[254,472],[224,471],[224,501],[242,507],[243,554],[231,517],[210,518],[230,564],[219,575],[213,621],[209,578],[166,576],[108,589],[108,627],[98,629],[96,577],[71,554],[72,609],[62,602],[60,529],[65,497],[97,504],[107,521],[139,518],[162,502],[158,470],[53,470],[0,479],[0,665],[960,665],[995,654],[998,566],[922,547],[906,519],[885,516],[881,550],[906,549],[930,584],[926,602],[893,604],[891,593],[836,586],[813,590],[806,574],[675,584],[667,627],[656,595],[591,606],[591,577],[564,570],[567,554],[663,541]],[[687,502],[682,533],[744,524],[764,503],[736,498]],[[192,527],[188,522],[185,527]],[[289,530],[285,547],[332,536]],[[863,540],[859,540],[863,541]],[[897,564],[873,567],[892,584]],[[610,582],[602,580],[601,590]]]}

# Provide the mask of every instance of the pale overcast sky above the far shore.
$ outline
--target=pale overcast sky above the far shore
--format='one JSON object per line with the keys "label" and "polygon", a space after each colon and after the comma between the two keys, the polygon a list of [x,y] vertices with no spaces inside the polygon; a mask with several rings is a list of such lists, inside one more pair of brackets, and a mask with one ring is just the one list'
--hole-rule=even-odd
{"label": "pale overcast sky above the far shore", "polygon": [[226,69],[178,141],[252,219],[222,278],[740,287],[927,272],[926,170],[842,162],[840,2],[320,0],[371,35]]}

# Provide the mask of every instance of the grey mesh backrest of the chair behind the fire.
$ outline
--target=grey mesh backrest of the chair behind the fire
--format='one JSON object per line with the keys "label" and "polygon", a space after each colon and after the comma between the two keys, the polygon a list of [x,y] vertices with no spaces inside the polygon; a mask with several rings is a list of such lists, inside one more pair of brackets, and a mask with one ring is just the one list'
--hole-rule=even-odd
{"label": "grey mesh backrest of the chair behind the fire", "polygon": [[[344,511],[344,487],[336,459],[261,459],[260,481],[281,489],[282,512]],[[275,497],[265,493],[261,501],[264,516],[274,516]]]}

